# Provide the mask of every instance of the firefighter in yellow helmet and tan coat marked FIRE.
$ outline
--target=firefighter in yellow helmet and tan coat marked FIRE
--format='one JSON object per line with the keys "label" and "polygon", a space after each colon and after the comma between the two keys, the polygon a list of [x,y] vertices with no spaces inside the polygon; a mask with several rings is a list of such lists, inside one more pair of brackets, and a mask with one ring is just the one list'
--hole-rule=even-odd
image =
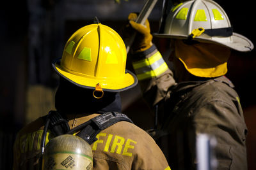
{"label": "firefighter in yellow helmet and tan coat marked FIRE", "polygon": [[[110,27],[97,23],[74,32],[61,59],[52,63],[60,74],[56,111],[19,132],[13,169],[40,169],[42,153],[46,169],[77,169],[83,158],[93,159],[93,169],[100,170],[170,169],[154,139],[120,113],[118,92],[137,83],[125,64],[124,41]],[[63,140],[71,139],[71,134],[79,138],[65,148]],[[77,148],[80,138],[92,147],[93,158]],[[90,169],[90,165],[84,168]]]}

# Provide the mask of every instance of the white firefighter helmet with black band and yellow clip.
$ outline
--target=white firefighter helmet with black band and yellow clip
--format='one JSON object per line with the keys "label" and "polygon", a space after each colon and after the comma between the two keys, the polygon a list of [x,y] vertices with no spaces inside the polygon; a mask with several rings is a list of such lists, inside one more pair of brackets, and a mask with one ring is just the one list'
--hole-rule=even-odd
{"label": "white firefighter helmet with black band and yellow clip", "polygon": [[227,14],[216,2],[192,0],[172,8],[170,3],[166,4],[161,27],[154,36],[176,39],[193,37],[196,41],[216,43],[240,52],[253,49],[250,39],[232,31]]}

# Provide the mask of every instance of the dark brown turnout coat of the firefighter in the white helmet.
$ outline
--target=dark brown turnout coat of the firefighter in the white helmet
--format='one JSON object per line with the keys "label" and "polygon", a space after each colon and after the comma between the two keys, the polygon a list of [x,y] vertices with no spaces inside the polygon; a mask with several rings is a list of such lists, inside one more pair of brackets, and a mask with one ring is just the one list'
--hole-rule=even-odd
{"label": "dark brown turnout coat of the firefighter in the white helmet", "polygon": [[[134,59],[157,52],[150,50]],[[155,78],[139,82],[150,106],[158,105],[159,127],[152,136],[172,169],[196,169],[195,141],[196,135],[202,133],[216,138],[217,169],[247,169],[247,128],[239,96],[228,78],[220,76],[177,84],[168,69]]]}

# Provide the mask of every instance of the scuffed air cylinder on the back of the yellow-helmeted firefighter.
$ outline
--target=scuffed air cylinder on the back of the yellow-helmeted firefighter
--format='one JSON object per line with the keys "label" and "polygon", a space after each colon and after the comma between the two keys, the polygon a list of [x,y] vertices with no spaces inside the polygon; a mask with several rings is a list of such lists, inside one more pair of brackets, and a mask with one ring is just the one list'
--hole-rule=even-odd
{"label": "scuffed air cylinder on the back of the yellow-helmeted firefighter", "polygon": [[92,169],[91,146],[84,139],[63,134],[51,139],[45,146],[42,169]]}

